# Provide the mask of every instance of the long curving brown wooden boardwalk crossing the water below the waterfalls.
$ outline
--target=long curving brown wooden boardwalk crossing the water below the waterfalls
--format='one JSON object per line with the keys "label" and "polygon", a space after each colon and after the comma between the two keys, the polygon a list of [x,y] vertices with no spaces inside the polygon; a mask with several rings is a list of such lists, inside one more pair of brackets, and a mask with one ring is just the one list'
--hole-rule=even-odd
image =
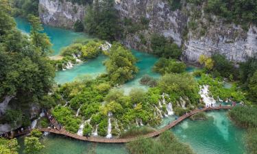
{"label": "long curving brown wooden boardwalk crossing the water below the waterfalls", "polygon": [[[197,114],[198,112],[206,112],[208,110],[221,110],[221,109],[225,109],[225,110],[230,110],[232,109],[232,106],[221,106],[221,107],[208,107],[208,108],[204,108],[202,110],[193,110],[192,112],[184,115],[184,116],[180,116],[177,120],[173,121],[172,123],[170,123],[169,125],[163,127],[162,129],[158,130],[158,131],[154,131],[152,133],[148,133],[144,136],[140,136],[140,138],[152,138],[154,136],[158,136],[160,135],[160,133],[163,133],[164,131],[167,131],[169,129],[171,129],[172,127],[174,127],[175,125],[178,125],[178,123],[180,123],[182,120],[185,120],[186,118],[188,118],[189,116],[192,116],[194,114]],[[138,137],[133,137],[133,138],[112,138],[112,139],[108,139],[108,138],[97,138],[97,137],[84,137],[84,136],[78,136],[77,134],[74,133],[69,133],[68,131],[61,129],[61,130],[56,130],[56,129],[51,129],[51,128],[43,128],[43,129],[39,129],[40,131],[47,131],[50,133],[56,133],[56,134],[60,134],[60,135],[64,135],[64,136],[68,136],[70,138],[75,138],[77,140],[84,140],[84,141],[90,141],[90,142],[102,142],[102,143],[125,143],[125,142],[132,142],[134,140],[138,140]]]}

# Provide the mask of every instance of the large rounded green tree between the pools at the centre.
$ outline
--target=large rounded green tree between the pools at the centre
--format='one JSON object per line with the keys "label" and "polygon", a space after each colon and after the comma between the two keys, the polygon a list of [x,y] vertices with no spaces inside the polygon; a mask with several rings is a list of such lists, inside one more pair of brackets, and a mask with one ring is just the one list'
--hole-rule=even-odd
{"label": "large rounded green tree between the pools at the centre", "polygon": [[113,44],[109,59],[105,62],[108,75],[112,84],[124,84],[126,81],[133,79],[138,72],[135,66],[136,57],[131,51],[125,49],[121,44]]}

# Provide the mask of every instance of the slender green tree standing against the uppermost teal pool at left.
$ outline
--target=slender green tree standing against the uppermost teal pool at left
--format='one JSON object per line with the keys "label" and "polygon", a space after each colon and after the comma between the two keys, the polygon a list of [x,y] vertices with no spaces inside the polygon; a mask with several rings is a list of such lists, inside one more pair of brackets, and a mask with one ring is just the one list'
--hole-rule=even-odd
{"label": "slender green tree standing against the uppermost teal pool at left", "polygon": [[30,31],[32,44],[41,51],[42,55],[47,55],[51,51],[52,44],[47,34],[42,33],[43,28],[40,23],[40,19],[36,16],[30,15],[29,23],[32,25],[32,29]]}

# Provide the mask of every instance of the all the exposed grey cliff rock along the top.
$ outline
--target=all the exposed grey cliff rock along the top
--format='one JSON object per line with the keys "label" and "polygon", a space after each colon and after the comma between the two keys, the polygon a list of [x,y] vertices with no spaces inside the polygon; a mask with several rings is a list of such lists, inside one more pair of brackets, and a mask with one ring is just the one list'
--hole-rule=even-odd
{"label": "all the exposed grey cliff rock along the top", "polygon": [[[257,53],[257,28],[251,26],[248,31],[233,24],[225,24],[215,19],[214,22],[201,27],[206,23],[206,18],[200,18],[195,30],[188,28],[188,34],[184,36],[188,22],[190,22],[192,8],[187,5],[182,10],[172,11],[166,0],[116,0],[116,8],[121,18],[132,18],[133,23],[141,16],[149,19],[149,27],[134,34],[127,34],[121,42],[127,47],[141,51],[151,51],[150,38],[152,34],[161,34],[172,38],[175,43],[184,49],[183,57],[188,62],[196,62],[199,55],[212,55],[219,52],[228,60],[241,62],[245,57]],[[43,23],[57,27],[73,27],[77,19],[84,18],[84,7],[73,5],[65,0],[40,0],[40,18]],[[201,11],[201,8],[197,8]],[[203,14],[203,12],[201,12]],[[204,30],[202,35],[197,32]],[[144,36],[146,43],[142,43]]]}

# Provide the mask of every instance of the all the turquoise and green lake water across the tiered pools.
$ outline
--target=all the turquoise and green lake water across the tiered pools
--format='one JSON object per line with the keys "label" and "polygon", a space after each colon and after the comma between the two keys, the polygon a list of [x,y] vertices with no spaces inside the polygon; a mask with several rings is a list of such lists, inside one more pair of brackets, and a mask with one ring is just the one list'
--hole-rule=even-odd
{"label": "all the turquoise and green lake water across the tiered pools", "polygon": [[[16,18],[17,27],[24,33],[29,33],[29,23],[22,18]],[[51,38],[53,43],[53,55],[58,55],[62,47],[66,47],[78,38],[90,39],[86,34],[75,33],[70,30],[60,29],[55,27],[49,27],[44,25],[45,32]],[[139,51],[132,50],[132,53],[138,58],[136,66],[140,68],[140,72],[136,77],[122,86],[120,89],[128,93],[132,88],[144,88],[139,84],[140,78],[148,74],[151,77],[160,77],[157,73],[151,71],[151,67],[158,60],[154,55],[147,53],[141,53]],[[59,71],[56,73],[56,82],[63,84],[65,82],[73,81],[80,75],[91,75],[96,77],[100,73],[106,71],[103,66],[103,61],[107,57],[101,55],[95,60],[85,62],[74,66],[66,71]],[[194,68],[188,68],[188,72],[192,72]],[[229,86],[228,86],[229,87]],[[243,134],[244,130],[236,127],[228,118],[228,112],[208,112],[208,120],[184,120],[182,123],[171,129],[173,133],[180,139],[181,142],[189,144],[192,149],[199,154],[239,154],[245,153],[243,146]],[[164,118],[162,124],[159,126],[164,127],[171,121],[175,120],[175,116],[169,116]],[[42,153],[49,154],[81,154],[81,153],[97,153],[97,154],[127,154],[124,144],[96,144],[91,142],[82,142],[79,140],[73,140],[64,136],[56,136],[50,134],[44,137],[42,144],[45,145],[45,149]],[[22,153],[23,149],[23,137],[19,138],[19,144],[21,145]]]}

